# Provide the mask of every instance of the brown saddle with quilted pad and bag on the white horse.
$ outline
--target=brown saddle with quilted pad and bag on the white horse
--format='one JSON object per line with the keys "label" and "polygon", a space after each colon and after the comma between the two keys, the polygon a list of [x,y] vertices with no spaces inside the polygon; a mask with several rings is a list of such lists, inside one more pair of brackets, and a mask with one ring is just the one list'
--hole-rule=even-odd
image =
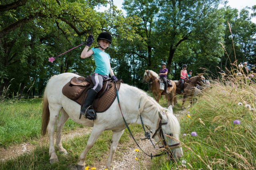
{"label": "brown saddle with quilted pad and bag on the white horse", "polygon": [[[121,82],[122,80],[118,80],[115,84],[111,82],[111,78],[107,78],[103,81],[102,89],[98,92],[92,104],[96,112],[104,112],[112,105],[116,98],[116,87],[119,90]],[[82,107],[87,95],[87,90],[93,86],[91,76],[87,76],[86,78],[73,77],[70,82],[62,88],[62,94],[80,104]]]}

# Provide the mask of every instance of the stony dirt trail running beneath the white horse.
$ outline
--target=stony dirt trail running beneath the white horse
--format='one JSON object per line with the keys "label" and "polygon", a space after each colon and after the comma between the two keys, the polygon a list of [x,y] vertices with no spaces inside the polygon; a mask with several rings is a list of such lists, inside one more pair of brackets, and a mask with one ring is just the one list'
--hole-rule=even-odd
{"label": "stony dirt trail running beneath the white horse", "polygon": [[[186,114],[186,111],[177,111],[174,113],[176,117],[179,119],[179,117],[183,114]],[[84,128],[78,128],[74,131],[70,131],[68,134],[62,134],[62,139],[68,140],[72,139],[79,135],[84,135],[86,133],[90,133],[91,128],[84,127]],[[144,138],[144,134],[140,134],[141,136],[136,136],[136,139]],[[55,139],[55,136],[54,136]],[[40,140],[37,141],[37,144],[32,145],[31,143],[22,143],[19,145],[12,145],[8,149],[0,149],[0,160],[8,160],[10,158],[14,158],[16,156],[20,156],[23,153],[30,152],[34,150],[36,147],[43,145],[45,143],[48,143],[48,136],[42,137]],[[152,153],[157,154],[158,149],[155,149],[152,146],[152,143],[150,143],[149,140],[144,141],[137,141],[142,150],[144,150],[146,153],[150,154]],[[54,141],[55,143],[55,141]],[[134,149],[139,149],[132,138],[130,138],[129,142],[126,144],[118,145],[118,148],[116,150],[116,154],[113,161],[113,166],[115,170],[133,170],[133,169],[149,169],[151,166],[151,160],[149,156],[146,156],[142,152],[136,152]],[[125,147],[125,151],[124,151]],[[138,158],[138,160],[136,160]],[[95,162],[95,166],[97,170],[104,170],[106,159],[102,160],[101,162]],[[139,168],[138,168],[139,167]]]}

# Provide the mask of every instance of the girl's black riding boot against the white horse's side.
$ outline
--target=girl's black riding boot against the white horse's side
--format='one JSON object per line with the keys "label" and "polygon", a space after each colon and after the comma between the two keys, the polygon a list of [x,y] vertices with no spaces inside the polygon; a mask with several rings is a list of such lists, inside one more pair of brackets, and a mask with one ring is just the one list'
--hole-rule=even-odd
{"label": "girl's black riding boot against the white horse's side", "polygon": [[83,107],[80,111],[80,114],[84,115],[84,118],[87,118],[87,119],[90,119],[90,120],[95,120],[96,119],[96,117],[97,117],[96,116],[96,111],[92,107],[92,103],[93,103],[96,95],[97,95],[97,92],[92,88],[90,88],[87,91],[87,96],[84,99],[84,104],[83,104]]}

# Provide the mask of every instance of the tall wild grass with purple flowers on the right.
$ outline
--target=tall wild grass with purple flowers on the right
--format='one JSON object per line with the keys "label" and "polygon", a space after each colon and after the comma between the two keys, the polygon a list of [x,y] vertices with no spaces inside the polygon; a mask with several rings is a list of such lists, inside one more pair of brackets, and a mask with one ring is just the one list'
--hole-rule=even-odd
{"label": "tall wild grass with purple flowers on the right", "polygon": [[234,68],[211,82],[212,88],[188,110],[192,119],[184,115],[180,120],[182,160],[158,158],[152,169],[159,163],[162,170],[256,169],[256,74]]}

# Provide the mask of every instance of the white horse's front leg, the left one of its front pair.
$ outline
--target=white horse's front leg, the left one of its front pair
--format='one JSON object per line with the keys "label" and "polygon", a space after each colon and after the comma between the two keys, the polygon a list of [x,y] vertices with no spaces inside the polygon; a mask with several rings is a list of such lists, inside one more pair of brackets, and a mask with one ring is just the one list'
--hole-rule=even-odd
{"label": "white horse's front leg, the left one of its front pair", "polygon": [[78,164],[78,166],[80,166],[80,168],[81,167],[83,168],[83,166],[85,166],[84,160],[85,160],[86,154],[93,147],[94,143],[96,142],[96,140],[98,139],[98,137],[100,136],[100,134],[103,131],[104,131],[104,129],[102,127],[94,125],[94,127],[92,129],[92,132],[90,134],[90,137],[87,141],[86,147],[79,156],[80,161],[77,164]]}

